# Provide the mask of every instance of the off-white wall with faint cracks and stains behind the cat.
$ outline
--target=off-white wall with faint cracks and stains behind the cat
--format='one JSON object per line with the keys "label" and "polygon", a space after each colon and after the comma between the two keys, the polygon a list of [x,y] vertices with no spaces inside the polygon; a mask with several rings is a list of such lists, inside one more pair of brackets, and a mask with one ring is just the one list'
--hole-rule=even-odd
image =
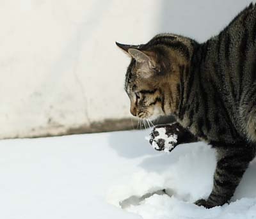
{"label": "off-white wall with faint cracks and stains behind the cat", "polygon": [[200,42],[250,1],[0,1],[0,138],[129,117],[115,46],[172,32]]}

